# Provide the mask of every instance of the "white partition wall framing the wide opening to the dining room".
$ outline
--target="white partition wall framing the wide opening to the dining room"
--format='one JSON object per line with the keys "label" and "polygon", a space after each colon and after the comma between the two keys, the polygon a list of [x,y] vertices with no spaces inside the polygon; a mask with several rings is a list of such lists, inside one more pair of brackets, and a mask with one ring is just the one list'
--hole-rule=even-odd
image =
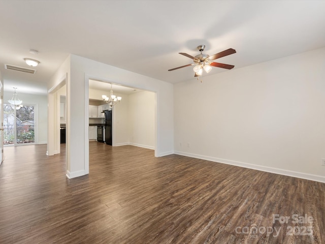
{"label": "white partition wall framing the wide opening to the dining room", "polygon": [[[155,156],[159,157],[173,153],[172,84],[71,54],[49,82],[49,92],[61,82],[62,76],[66,74],[67,176],[69,178],[89,173],[89,78],[155,92],[157,96]],[[48,102],[49,108],[54,107],[51,93],[49,93]],[[49,130],[51,128],[49,126]],[[51,142],[51,139],[49,141]],[[81,151],[83,154],[80,154]]]}

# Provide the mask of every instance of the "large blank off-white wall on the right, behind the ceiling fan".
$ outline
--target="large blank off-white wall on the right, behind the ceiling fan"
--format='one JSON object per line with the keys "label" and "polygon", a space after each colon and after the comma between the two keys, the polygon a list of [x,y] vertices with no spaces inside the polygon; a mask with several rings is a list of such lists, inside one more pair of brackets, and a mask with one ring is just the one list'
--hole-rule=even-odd
{"label": "large blank off-white wall on the right, behind the ceiling fan", "polygon": [[325,182],[324,78],[322,48],[175,84],[175,153]]}

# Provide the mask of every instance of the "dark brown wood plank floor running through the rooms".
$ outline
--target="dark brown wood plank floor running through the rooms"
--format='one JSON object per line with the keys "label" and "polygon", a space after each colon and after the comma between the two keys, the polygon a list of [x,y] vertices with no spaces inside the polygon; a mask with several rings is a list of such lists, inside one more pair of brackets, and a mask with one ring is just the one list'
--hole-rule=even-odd
{"label": "dark brown wood plank floor running through the rooms", "polygon": [[1,244],[325,243],[320,182],[98,142],[68,179],[64,149],[5,147]]}

